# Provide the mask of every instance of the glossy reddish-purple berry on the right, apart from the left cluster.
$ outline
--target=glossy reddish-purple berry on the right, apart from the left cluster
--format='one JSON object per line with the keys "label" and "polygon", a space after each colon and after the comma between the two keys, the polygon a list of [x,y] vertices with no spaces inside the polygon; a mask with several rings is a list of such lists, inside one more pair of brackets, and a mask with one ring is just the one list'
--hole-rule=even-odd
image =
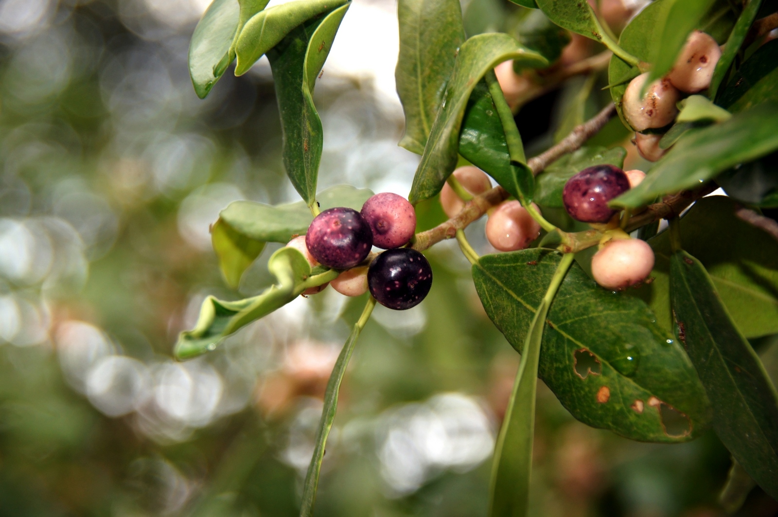
{"label": "glossy reddish-purple berry on the right, apart from the left cluster", "polygon": [[629,190],[629,178],[613,165],[595,165],[567,180],[562,201],[567,213],[584,223],[607,223],[615,210],[608,206],[611,199]]}

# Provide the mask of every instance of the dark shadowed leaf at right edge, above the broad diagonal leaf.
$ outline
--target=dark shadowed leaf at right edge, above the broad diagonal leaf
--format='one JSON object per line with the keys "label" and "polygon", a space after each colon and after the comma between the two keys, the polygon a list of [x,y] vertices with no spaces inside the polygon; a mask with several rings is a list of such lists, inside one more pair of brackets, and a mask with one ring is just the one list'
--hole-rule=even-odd
{"label": "dark shadowed leaf at right edge, above the broad diagonal leaf", "polygon": [[759,47],[727,86],[719,91],[716,102],[729,111],[744,111],[766,100],[778,101],[778,40]]}

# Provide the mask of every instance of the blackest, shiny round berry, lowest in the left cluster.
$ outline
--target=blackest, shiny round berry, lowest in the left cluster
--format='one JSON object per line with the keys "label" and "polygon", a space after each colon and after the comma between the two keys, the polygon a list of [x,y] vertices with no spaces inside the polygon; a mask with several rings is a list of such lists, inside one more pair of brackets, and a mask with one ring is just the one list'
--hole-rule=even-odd
{"label": "blackest, shiny round berry, lowest in the left cluster", "polygon": [[404,311],[415,307],[433,285],[433,269],[424,255],[412,248],[384,251],[367,270],[367,287],[379,304]]}

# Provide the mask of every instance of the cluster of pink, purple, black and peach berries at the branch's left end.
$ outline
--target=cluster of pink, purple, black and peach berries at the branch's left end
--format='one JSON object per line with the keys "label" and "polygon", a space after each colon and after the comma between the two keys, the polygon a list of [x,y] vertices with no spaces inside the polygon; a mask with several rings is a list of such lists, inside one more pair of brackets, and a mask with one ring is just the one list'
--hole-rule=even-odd
{"label": "cluster of pink, purple, black and peach berries at the branch's left end", "polygon": [[[342,270],[331,281],[332,288],[345,296],[360,296],[370,290],[378,303],[403,310],[419,304],[429,293],[433,272],[427,259],[412,248],[416,214],[400,195],[373,195],[361,212],[338,207],[324,210],[308,227],[307,234],[294,237],[287,246],[300,251],[311,267]],[[364,264],[370,249],[387,251]],[[316,294],[328,284],[312,287],[303,294]]]}

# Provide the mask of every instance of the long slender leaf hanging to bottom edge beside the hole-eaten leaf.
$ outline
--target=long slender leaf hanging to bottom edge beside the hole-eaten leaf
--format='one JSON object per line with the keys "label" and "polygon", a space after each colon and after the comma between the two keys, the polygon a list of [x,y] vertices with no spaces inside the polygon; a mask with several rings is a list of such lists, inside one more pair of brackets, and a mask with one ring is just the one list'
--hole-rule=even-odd
{"label": "long slender leaf hanging to bottom edge beside the hole-eaten leaf", "polygon": [[519,371],[495,447],[489,501],[489,515],[493,517],[527,515],[532,472],[535,394],[538,387],[538,359],[545,318],[556,290],[559,289],[559,283],[572,261],[573,255],[566,255],[559,262],[545,297],[535,311],[522,347]]}

